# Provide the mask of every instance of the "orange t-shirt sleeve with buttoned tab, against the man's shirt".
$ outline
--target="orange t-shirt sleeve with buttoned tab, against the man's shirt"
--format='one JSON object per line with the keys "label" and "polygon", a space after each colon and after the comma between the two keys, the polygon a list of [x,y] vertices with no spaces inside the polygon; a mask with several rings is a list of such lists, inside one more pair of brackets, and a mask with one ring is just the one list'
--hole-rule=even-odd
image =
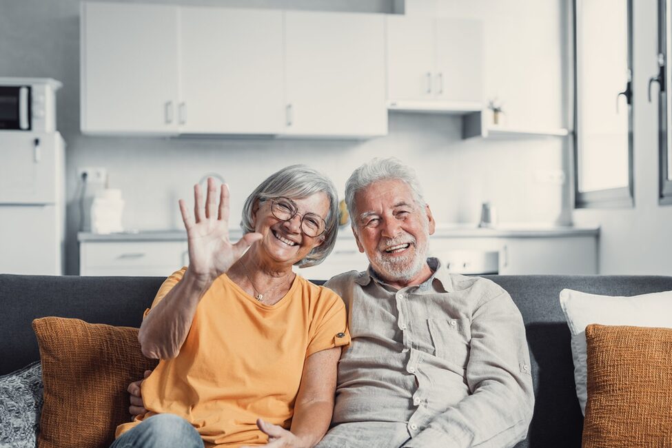
{"label": "orange t-shirt sleeve with buttoned tab, against the man's shirt", "polygon": [[343,300],[325,287],[320,287],[320,290],[318,301],[321,306],[316,312],[315,331],[308,343],[306,358],[322,350],[350,344]]}

